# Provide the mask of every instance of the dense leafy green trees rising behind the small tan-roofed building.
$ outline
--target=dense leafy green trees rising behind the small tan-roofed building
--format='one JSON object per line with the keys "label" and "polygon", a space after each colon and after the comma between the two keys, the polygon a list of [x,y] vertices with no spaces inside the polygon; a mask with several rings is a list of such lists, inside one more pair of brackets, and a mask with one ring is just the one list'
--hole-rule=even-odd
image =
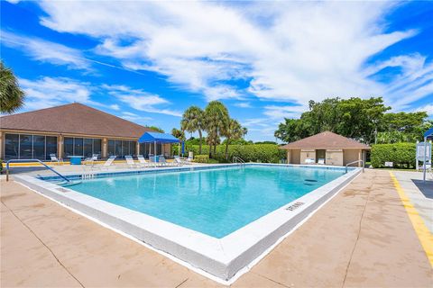
{"label": "dense leafy green trees rising behind the small tan-roofed building", "polygon": [[284,119],[275,137],[284,142],[303,139],[326,130],[366,144],[414,142],[433,127],[427,112],[388,112],[382,97],[327,98],[309,101],[299,119]]}

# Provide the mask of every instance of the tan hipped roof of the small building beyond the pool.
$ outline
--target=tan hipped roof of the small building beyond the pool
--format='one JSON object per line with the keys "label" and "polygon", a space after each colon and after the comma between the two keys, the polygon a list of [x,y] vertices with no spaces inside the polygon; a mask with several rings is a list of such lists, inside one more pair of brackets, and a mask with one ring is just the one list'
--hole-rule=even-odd
{"label": "tan hipped roof of the small building beyond the pool", "polygon": [[345,138],[331,131],[291,142],[280,147],[281,149],[370,149],[369,146],[353,139]]}

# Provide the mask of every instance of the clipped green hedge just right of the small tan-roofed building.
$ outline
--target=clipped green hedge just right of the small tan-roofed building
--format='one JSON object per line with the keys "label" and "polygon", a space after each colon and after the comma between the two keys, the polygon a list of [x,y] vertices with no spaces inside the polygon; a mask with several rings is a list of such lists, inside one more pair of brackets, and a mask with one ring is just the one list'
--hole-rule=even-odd
{"label": "clipped green hedge just right of the small tan-roofed building", "polygon": [[396,168],[414,168],[415,155],[415,143],[376,144],[372,147],[372,166],[381,168],[385,162],[393,162]]}

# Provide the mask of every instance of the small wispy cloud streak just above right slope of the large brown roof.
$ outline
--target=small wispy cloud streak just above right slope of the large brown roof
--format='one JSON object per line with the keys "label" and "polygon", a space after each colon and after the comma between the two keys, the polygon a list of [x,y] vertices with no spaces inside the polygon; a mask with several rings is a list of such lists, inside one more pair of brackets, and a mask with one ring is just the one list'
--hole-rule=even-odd
{"label": "small wispy cloud streak just above right slope of the large brown roof", "polygon": [[160,95],[150,94],[140,89],[132,89],[125,85],[102,85],[102,88],[106,90],[107,94],[115,96],[117,99],[128,104],[135,110],[161,113],[177,117],[182,115],[179,111],[163,107],[161,108],[161,105],[167,106],[170,102],[162,98]]}

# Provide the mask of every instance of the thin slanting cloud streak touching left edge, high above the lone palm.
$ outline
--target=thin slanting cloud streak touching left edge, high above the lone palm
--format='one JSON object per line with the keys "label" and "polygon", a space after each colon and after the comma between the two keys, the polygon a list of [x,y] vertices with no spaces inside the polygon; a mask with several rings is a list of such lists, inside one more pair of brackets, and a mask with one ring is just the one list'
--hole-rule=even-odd
{"label": "thin slanting cloud streak touching left edge, high above the lone palm", "polygon": [[25,37],[2,30],[2,43],[8,47],[22,49],[31,58],[55,65],[66,65],[73,69],[89,69],[88,61],[78,49],[39,38]]}

